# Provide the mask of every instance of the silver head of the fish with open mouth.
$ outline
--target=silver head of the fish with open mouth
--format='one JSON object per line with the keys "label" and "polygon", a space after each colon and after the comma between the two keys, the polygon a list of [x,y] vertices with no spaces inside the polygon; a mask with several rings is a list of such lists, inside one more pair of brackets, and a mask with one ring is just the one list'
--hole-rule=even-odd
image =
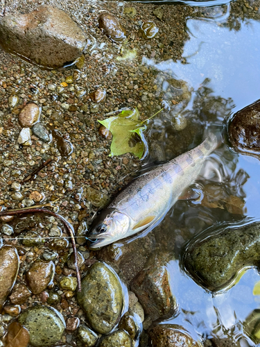
{"label": "silver head of the fish with open mouth", "polygon": [[107,209],[105,214],[104,217],[104,213],[101,213],[92,223],[88,238],[97,239],[90,246],[92,249],[112,244],[128,236],[130,218],[126,214],[114,209]]}

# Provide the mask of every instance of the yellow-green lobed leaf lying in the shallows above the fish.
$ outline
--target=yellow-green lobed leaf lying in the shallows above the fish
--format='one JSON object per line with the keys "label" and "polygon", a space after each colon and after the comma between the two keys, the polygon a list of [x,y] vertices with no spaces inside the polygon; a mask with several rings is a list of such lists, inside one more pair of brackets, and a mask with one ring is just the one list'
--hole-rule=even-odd
{"label": "yellow-green lobed leaf lying in the shallows above the fish", "polygon": [[144,154],[146,126],[139,120],[139,111],[123,110],[119,115],[99,121],[113,135],[110,156],[133,153],[140,159]]}

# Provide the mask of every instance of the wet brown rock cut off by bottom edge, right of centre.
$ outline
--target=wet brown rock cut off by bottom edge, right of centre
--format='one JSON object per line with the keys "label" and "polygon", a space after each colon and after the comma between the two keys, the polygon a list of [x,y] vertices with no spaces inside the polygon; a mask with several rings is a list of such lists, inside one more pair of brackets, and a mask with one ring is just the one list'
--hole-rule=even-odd
{"label": "wet brown rock cut off by bottom edge, right of centre", "polygon": [[160,324],[149,331],[153,347],[202,347],[180,325]]}

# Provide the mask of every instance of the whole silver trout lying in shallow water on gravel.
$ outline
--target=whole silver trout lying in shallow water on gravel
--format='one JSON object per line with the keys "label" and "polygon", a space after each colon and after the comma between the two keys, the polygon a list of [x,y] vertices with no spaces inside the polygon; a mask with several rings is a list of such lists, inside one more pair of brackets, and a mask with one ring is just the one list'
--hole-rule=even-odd
{"label": "whole silver trout lying in shallow water on gravel", "polygon": [[217,146],[216,135],[210,133],[196,148],[135,179],[94,220],[89,238],[98,240],[91,248],[112,244],[162,219],[198,178],[205,159]]}

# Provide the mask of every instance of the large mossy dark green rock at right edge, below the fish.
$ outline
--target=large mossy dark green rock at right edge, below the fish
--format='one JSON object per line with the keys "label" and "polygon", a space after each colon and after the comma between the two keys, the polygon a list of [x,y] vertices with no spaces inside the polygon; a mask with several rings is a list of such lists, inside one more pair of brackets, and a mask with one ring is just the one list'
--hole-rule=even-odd
{"label": "large mossy dark green rock at right edge, below the fish", "polygon": [[245,266],[259,266],[260,223],[203,232],[185,251],[185,269],[199,285],[218,291],[232,285]]}

